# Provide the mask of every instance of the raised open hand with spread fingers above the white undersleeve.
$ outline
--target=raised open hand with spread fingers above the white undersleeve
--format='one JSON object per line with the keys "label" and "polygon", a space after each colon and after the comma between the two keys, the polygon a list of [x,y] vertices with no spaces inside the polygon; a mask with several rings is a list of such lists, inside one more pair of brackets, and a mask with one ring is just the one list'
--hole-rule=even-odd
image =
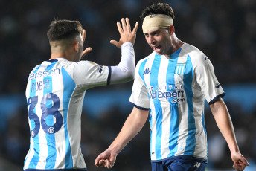
{"label": "raised open hand with spread fingers above the white undersleeve", "polygon": [[131,26],[129,25],[128,18],[126,18],[125,20],[124,18],[122,18],[121,22],[122,22],[122,26],[120,22],[117,23],[118,31],[120,33],[119,42],[116,40],[111,40],[110,43],[112,43],[118,48],[121,48],[121,45],[123,45],[124,42],[131,42],[132,45],[134,45],[135,39],[136,39],[136,32],[138,30],[138,22],[136,22],[132,31],[131,31]]}

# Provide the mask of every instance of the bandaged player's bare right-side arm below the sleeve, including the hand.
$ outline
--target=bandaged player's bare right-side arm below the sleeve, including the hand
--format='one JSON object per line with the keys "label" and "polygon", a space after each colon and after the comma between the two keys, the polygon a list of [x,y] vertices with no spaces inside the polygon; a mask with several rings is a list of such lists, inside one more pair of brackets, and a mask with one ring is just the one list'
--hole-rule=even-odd
{"label": "bandaged player's bare right-side arm below the sleeve, including the hand", "polygon": [[214,114],[214,119],[216,120],[220,132],[223,134],[225,141],[228,143],[228,148],[231,152],[231,159],[234,161],[234,169],[244,170],[244,168],[248,166],[249,163],[240,153],[234,135],[234,127],[231,121],[231,117],[228,113],[228,109],[225,106],[224,101],[222,98],[219,98],[216,102],[210,105],[210,108],[211,112]]}

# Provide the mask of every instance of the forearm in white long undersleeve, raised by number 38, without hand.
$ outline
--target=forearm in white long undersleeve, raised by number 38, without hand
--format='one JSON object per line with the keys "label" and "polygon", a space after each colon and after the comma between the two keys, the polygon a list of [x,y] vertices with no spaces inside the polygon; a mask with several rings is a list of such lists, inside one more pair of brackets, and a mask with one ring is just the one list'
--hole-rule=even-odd
{"label": "forearm in white long undersleeve, raised by number 38, without hand", "polygon": [[117,66],[112,66],[110,84],[124,83],[134,78],[135,72],[135,53],[133,45],[130,42],[125,42],[121,46],[121,61]]}

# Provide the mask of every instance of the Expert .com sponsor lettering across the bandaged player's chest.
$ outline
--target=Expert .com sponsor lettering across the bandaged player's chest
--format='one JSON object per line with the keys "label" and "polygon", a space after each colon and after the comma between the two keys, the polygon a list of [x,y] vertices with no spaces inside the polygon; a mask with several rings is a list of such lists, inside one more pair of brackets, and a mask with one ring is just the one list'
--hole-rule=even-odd
{"label": "Expert .com sponsor lettering across the bandaged player's chest", "polygon": [[159,86],[159,88],[151,86],[149,88],[150,100],[173,98],[172,103],[185,102],[185,91],[182,85],[169,85],[168,88],[170,91],[167,91],[167,86]]}

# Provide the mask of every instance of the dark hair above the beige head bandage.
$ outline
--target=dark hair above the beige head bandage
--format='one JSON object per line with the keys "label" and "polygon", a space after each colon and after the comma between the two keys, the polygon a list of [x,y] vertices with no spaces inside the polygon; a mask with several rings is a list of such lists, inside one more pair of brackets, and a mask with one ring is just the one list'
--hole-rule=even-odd
{"label": "dark hair above the beige head bandage", "polygon": [[150,7],[146,7],[141,12],[141,15],[140,15],[141,22],[143,22],[146,16],[149,16],[151,14],[164,14],[174,19],[173,8],[170,7],[169,4],[167,3],[158,2],[156,4],[152,4]]}

